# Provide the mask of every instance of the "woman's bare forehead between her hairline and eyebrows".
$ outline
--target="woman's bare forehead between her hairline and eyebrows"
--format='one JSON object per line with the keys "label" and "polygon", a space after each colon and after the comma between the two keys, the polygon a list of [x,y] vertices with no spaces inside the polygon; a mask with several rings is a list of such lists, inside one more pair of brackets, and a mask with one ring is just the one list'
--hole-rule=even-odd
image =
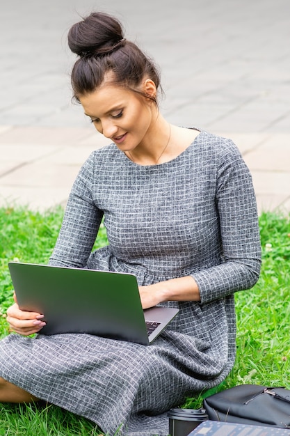
{"label": "woman's bare forehead between her hairline and eyebrows", "polygon": [[102,116],[114,109],[122,109],[124,104],[137,98],[134,91],[123,86],[104,84],[91,93],[79,97],[79,101],[89,116]]}

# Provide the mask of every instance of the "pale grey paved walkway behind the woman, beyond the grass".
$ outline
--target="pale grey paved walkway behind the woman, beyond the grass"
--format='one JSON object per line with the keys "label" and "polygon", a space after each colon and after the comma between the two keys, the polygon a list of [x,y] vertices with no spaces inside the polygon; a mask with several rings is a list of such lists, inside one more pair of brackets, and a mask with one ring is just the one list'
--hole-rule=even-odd
{"label": "pale grey paved walkway behind the woman, beyond the grass", "polygon": [[70,102],[67,30],[96,4],[159,63],[166,118],[234,139],[259,212],[289,212],[289,0],[1,2],[0,205],[64,205],[108,142]]}

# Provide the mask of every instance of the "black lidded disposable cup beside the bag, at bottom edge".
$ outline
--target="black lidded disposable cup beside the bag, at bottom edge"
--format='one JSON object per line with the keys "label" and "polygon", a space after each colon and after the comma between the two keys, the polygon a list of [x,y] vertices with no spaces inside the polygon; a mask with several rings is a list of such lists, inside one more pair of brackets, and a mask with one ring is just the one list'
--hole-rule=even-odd
{"label": "black lidded disposable cup beside the bag, at bottom edge", "polygon": [[167,416],[170,436],[187,436],[200,423],[209,419],[204,409],[170,409]]}

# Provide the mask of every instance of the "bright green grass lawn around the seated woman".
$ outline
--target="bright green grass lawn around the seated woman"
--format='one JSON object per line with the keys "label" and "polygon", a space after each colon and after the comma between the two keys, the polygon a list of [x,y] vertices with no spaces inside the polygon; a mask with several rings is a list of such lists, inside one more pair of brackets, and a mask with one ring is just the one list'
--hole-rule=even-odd
{"label": "bright green grass lawn around the seated woman", "polygon": [[[13,302],[8,261],[47,263],[63,210],[40,214],[25,208],[0,208],[0,337],[8,334],[5,312]],[[261,277],[251,290],[236,293],[237,355],[234,369],[220,387],[254,383],[290,389],[290,219],[274,213],[259,217]],[[102,226],[95,247],[106,244]],[[202,396],[185,407],[200,407]],[[0,436],[98,435],[95,424],[54,405],[0,405]]]}

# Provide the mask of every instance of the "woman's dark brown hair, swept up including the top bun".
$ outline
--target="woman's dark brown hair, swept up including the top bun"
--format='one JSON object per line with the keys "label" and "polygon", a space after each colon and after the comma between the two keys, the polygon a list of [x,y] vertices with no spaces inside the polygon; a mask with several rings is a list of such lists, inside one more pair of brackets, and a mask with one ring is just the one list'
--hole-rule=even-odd
{"label": "woman's dark brown hair, swept up including the top bun", "polygon": [[[74,24],[68,33],[68,45],[79,56],[72,69],[74,98],[95,91],[106,73],[113,73],[113,83],[138,90],[146,77],[160,86],[159,71],[154,62],[134,44],[124,39],[122,25],[111,15],[92,13]],[[156,98],[152,98],[156,103]]]}

